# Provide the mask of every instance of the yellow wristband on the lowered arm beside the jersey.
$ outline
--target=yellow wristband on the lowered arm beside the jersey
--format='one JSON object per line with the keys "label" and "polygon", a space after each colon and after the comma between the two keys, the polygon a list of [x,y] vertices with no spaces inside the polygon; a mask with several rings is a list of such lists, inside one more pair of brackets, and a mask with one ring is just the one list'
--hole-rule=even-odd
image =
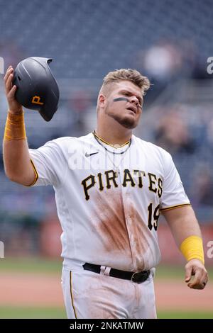
{"label": "yellow wristband on the lowered arm beside the jersey", "polygon": [[191,259],[199,259],[204,264],[202,238],[198,236],[187,237],[180,244],[180,251],[187,261],[190,261]]}

